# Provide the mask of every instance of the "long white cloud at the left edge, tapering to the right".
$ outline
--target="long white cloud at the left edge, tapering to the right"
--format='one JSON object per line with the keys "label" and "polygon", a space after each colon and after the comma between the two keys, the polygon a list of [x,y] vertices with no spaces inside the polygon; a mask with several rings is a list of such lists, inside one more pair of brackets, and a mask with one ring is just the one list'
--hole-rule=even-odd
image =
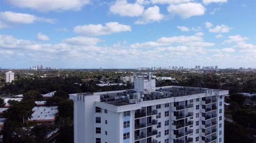
{"label": "long white cloud at the left edge, tapering to the right", "polygon": [[0,19],[2,27],[8,24],[31,24],[35,22],[55,23],[55,19],[46,19],[31,14],[15,13],[11,11],[0,12]]}

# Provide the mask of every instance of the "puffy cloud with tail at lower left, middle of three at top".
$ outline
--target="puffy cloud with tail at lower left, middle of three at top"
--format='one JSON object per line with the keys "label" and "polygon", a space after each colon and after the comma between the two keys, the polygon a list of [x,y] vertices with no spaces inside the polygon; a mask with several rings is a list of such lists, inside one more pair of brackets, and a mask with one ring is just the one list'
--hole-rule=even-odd
{"label": "puffy cloud with tail at lower left, middle of three at top", "polygon": [[146,24],[155,21],[161,21],[164,16],[160,13],[159,7],[148,7],[147,10],[142,14],[140,20],[136,21],[135,24]]}

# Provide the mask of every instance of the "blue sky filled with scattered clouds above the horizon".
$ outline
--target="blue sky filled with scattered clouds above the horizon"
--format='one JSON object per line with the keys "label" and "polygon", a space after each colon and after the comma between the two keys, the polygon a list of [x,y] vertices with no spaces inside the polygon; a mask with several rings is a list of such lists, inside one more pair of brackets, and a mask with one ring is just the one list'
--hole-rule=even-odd
{"label": "blue sky filled with scattered clouds above the horizon", "polygon": [[0,67],[256,68],[254,0],[1,0]]}

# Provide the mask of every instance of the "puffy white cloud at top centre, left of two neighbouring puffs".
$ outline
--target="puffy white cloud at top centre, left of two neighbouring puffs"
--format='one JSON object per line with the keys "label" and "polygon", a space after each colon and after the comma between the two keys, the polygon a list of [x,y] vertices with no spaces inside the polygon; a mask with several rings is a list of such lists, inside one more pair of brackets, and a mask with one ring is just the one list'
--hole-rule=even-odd
{"label": "puffy white cloud at top centre, left of two neighbouring puffs", "polygon": [[110,6],[110,11],[120,16],[140,16],[144,7],[138,3],[130,4],[126,0],[117,0],[114,5]]}

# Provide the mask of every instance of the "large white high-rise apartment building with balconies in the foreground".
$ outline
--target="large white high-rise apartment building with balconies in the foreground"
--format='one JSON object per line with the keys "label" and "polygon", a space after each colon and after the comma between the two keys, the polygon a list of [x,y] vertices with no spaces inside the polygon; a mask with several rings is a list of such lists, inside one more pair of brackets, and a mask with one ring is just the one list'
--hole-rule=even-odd
{"label": "large white high-rise apartment building with balconies in the foreground", "polygon": [[227,90],[155,87],[135,78],[135,90],[70,94],[75,143],[224,141]]}

